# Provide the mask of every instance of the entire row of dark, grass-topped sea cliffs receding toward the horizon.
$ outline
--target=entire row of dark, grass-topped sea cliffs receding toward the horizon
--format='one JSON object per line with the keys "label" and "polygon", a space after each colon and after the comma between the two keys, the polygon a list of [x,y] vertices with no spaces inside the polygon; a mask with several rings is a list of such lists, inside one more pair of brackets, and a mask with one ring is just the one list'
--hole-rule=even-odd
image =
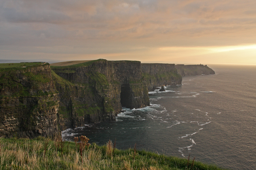
{"label": "entire row of dark, grass-topped sea cliffs receding toward the horizon", "polygon": [[209,70],[203,65],[178,66],[178,71],[176,66],[99,59],[70,66],[32,63],[0,69],[0,136],[53,138],[67,128],[115,121],[122,107],[150,106],[149,91],[180,85],[180,70],[212,74],[202,73]]}

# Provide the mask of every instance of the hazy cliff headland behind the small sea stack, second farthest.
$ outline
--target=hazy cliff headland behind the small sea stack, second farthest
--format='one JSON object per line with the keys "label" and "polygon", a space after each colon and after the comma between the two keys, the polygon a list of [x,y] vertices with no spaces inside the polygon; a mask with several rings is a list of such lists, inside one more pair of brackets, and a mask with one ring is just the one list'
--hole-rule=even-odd
{"label": "hazy cliff headland behind the small sea stack, second farthest", "polygon": [[148,91],[154,91],[156,87],[161,86],[179,85],[182,82],[182,77],[174,64],[143,63],[141,70]]}

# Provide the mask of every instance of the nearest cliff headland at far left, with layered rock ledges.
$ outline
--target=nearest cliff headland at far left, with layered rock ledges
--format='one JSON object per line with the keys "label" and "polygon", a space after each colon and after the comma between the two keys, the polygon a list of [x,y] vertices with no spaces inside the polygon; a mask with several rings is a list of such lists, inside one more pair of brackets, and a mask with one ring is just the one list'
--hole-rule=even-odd
{"label": "nearest cliff headland at far left, with layered rock ledges", "polygon": [[49,64],[0,69],[0,136],[58,135],[57,95]]}

